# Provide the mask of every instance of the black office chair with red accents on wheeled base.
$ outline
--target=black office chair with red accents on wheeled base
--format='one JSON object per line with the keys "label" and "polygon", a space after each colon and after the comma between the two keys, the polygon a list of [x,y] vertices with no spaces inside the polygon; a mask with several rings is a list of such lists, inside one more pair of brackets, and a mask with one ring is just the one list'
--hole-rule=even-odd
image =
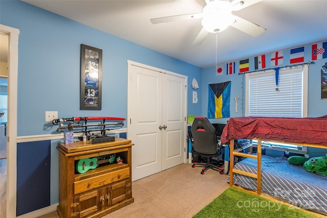
{"label": "black office chair with red accents on wheeled base", "polygon": [[192,167],[203,166],[201,174],[208,168],[223,172],[223,160],[219,160],[218,156],[222,154],[220,144],[216,134],[215,127],[209,122],[206,117],[196,117],[191,127],[191,143],[193,150],[200,156],[206,159],[206,162],[193,162]]}

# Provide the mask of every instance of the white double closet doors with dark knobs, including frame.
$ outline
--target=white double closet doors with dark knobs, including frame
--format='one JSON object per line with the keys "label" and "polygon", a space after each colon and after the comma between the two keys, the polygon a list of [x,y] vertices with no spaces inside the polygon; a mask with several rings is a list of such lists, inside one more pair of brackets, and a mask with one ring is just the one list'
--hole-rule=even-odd
{"label": "white double closet doors with dark knobs, including frame", "polygon": [[187,77],[128,61],[132,181],[185,162]]}

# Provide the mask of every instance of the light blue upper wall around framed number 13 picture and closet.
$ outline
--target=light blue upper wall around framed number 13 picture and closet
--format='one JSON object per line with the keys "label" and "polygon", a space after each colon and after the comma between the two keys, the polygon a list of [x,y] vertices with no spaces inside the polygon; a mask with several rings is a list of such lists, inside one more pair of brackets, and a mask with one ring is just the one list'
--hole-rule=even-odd
{"label": "light blue upper wall around framed number 13 picture and closet", "polygon": [[[201,68],[87,27],[21,1],[0,1],[0,22],[17,28],[17,136],[55,133],[44,122],[44,111],[58,117],[127,117],[127,60],[189,77],[188,114],[200,114],[192,104],[192,79]],[[132,33],[131,33],[132,34]],[[80,44],[103,50],[102,110],[80,110]]]}

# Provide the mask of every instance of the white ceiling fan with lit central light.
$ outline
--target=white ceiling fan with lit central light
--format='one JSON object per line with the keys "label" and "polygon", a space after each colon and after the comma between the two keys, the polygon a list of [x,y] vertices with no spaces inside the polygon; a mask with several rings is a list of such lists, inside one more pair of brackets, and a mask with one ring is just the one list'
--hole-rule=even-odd
{"label": "white ceiling fan with lit central light", "polygon": [[185,19],[202,18],[202,30],[199,32],[193,45],[199,45],[208,33],[219,33],[231,26],[251,36],[259,36],[266,31],[265,28],[255,23],[233,15],[232,11],[238,11],[262,0],[205,0],[201,13],[181,14],[168,17],[150,19],[153,24],[171,22]]}

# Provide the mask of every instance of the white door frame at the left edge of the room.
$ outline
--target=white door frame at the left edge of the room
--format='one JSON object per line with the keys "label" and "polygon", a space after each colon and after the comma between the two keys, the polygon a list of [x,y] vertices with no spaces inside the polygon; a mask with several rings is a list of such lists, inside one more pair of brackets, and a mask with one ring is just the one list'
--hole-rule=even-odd
{"label": "white door frame at the left edge of the room", "polygon": [[19,30],[5,25],[0,25],[0,32],[9,36],[6,217],[16,217],[17,77]]}

